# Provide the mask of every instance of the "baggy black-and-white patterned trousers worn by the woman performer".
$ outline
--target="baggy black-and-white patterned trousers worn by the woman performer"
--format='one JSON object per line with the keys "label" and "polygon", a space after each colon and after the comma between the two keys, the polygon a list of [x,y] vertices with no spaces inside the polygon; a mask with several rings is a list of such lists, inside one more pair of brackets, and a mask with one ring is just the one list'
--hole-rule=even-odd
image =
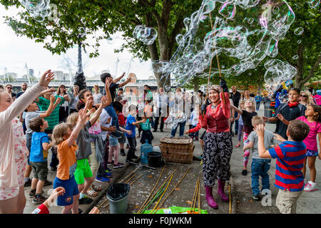
{"label": "baggy black-and-white patterned trousers worn by the woman performer", "polygon": [[228,133],[206,133],[203,151],[204,185],[213,187],[215,180],[230,180],[232,136]]}

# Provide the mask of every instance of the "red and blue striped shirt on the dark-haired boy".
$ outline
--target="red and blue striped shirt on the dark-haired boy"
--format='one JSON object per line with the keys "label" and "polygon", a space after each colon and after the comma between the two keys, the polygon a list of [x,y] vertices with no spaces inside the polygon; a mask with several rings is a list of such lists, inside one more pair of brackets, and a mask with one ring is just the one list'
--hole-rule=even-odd
{"label": "red and blue striped shirt on the dark-haired boy", "polygon": [[290,192],[300,192],[304,188],[302,175],[305,153],[303,142],[285,141],[269,150],[272,158],[277,158],[275,169],[275,187]]}

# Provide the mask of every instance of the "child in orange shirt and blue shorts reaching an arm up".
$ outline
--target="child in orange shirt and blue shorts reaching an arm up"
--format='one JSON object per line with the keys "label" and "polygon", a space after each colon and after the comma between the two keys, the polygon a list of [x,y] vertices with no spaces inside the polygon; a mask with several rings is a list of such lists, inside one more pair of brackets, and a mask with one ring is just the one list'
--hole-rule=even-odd
{"label": "child in orange shirt and blue shorts reaching an arm up", "polygon": [[68,123],[56,125],[53,131],[53,139],[58,145],[58,160],[57,175],[54,180],[54,189],[63,187],[66,192],[57,199],[58,206],[63,206],[63,214],[69,214],[70,210],[73,214],[78,214],[78,198],[79,191],[73,173],[76,170],[76,151],[78,146],[76,138],[86,123],[86,110],[79,110],[78,122],[75,128],[72,128]]}

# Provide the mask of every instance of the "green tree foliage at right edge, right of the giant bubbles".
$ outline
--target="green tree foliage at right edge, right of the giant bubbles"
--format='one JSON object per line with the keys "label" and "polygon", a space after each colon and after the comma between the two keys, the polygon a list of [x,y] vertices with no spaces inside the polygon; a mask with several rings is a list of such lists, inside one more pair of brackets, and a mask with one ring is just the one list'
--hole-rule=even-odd
{"label": "green tree foliage at right edge, right of the giant bubbles", "polygon": [[[297,68],[297,75],[293,81],[295,87],[302,88],[311,78],[321,79],[321,13],[319,9],[310,8],[307,1],[289,0],[288,3],[295,12],[295,22],[278,44],[277,58]],[[304,32],[296,36],[294,31],[300,27]],[[296,55],[298,58],[293,58]]]}

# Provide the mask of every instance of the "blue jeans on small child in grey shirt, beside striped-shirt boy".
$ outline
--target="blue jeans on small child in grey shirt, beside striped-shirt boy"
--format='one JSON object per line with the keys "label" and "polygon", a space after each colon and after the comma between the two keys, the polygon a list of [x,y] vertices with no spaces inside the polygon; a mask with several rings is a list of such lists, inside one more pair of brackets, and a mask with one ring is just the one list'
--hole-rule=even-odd
{"label": "blue jeans on small child in grey shirt, beside striped-shirt boy", "polygon": [[251,165],[252,172],[252,194],[260,194],[260,176],[262,177],[262,190],[270,189],[270,180],[267,171],[270,170],[270,159],[253,159]]}

